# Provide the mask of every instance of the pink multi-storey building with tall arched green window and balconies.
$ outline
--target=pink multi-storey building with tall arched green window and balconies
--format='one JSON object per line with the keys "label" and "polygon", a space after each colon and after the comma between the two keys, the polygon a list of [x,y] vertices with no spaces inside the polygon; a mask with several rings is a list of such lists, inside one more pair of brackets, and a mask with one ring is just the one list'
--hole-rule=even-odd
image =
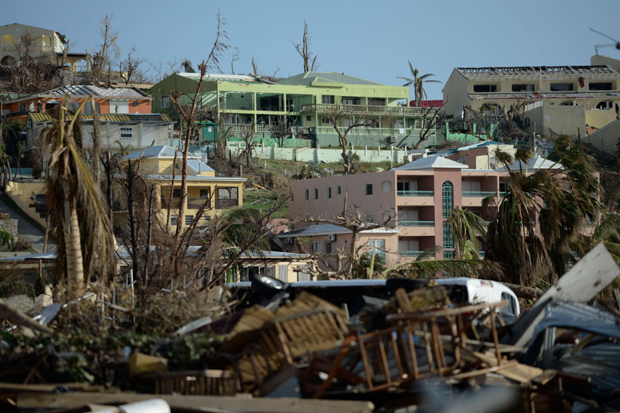
{"label": "pink multi-storey building with tall arched green window and balconies", "polygon": [[[387,228],[361,232],[357,245],[385,251],[389,264],[415,259],[434,246],[439,247],[436,259],[452,258],[454,242],[446,224],[451,211],[458,205],[490,220],[495,207],[483,208],[483,199],[488,196],[499,199],[507,185],[505,168],[471,168],[476,164],[497,166],[490,149],[485,148],[494,144],[480,142],[453,149],[445,157],[422,157],[390,171],[291,181],[289,217],[300,220],[340,215],[346,194],[347,211],[359,210],[366,222],[383,222],[391,217]],[[513,166],[519,170],[518,164]],[[550,167],[561,166],[540,157],[522,165],[524,171],[531,172]],[[532,220],[536,219],[532,216]],[[286,250],[298,251],[300,244],[305,243],[301,248],[306,252],[330,254],[346,247],[351,239],[350,232],[341,227],[304,226],[300,222],[291,232],[278,235],[286,240],[283,242]]]}

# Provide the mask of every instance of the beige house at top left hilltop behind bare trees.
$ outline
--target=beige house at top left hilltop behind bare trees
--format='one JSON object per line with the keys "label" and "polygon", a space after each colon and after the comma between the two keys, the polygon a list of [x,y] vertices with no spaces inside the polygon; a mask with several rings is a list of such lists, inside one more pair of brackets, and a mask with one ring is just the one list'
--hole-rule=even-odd
{"label": "beige house at top left hilltop behind bare trees", "polygon": [[12,23],[0,26],[0,64],[18,64],[30,55],[45,62],[70,65],[74,71],[88,69],[88,55],[69,51],[69,40],[55,30]]}

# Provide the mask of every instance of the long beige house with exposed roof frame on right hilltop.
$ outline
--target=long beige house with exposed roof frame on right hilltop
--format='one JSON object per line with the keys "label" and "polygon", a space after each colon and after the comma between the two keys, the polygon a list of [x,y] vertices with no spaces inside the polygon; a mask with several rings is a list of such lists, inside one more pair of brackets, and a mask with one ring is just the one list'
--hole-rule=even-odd
{"label": "long beige house with exposed roof frame on right hilltop", "polygon": [[593,66],[457,67],[444,86],[446,115],[522,112],[525,130],[585,136],[620,115],[620,73]]}

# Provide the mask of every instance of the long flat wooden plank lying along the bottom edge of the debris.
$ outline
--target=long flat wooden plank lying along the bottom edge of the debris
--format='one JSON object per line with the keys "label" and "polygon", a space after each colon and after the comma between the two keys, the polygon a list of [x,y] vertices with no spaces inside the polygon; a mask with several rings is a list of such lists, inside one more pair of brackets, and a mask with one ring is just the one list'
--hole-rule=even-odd
{"label": "long flat wooden plank lying along the bottom edge of the debris", "polygon": [[261,397],[134,395],[128,393],[62,393],[20,392],[20,409],[58,409],[80,407],[89,403],[125,404],[158,398],[171,409],[222,409],[246,413],[371,413],[371,402],[356,400],[308,400],[293,397],[266,399]]}

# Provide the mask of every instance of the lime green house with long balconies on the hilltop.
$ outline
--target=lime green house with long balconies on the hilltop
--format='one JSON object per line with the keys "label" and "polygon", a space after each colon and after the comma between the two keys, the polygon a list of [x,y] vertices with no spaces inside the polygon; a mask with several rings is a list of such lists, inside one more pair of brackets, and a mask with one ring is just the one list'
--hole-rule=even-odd
{"label": "lime green house with long balconies on the hilltop", "polygon": [[[153,111],[172,109],[171,94],[188,103],[196,93],[200,75],[175,73],[151,91]],[[339,72],[305,72],[277,82],[259,76],[206,75],[198,101],[218,114],[220,132],[227,137],[297,137],[320,147],[338,146],[338,134],[329,118],[337,114],[341,132],[356,120],[372,127],[349,131],[349,144],[386,147],[411,146],[419,140],[424,108],[408,107],[409,88],[388,86]],[[252,125],[252,130],[248,130]],[[213,131],[216,131],[213,125]],[[431,135],[434,135],[434,130]],[[206,139],[203,128],[203,139]],[[216,139],[217,133],[213,135]]]}

